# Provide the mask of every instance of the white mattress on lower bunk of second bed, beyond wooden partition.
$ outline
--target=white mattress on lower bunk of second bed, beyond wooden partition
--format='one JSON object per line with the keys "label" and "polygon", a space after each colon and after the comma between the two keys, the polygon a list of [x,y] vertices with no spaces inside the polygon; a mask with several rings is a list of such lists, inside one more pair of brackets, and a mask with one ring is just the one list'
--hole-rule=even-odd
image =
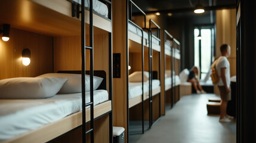
{"label": "white mattress on lower bunk of second bed, beyond wooden partition", "polygon": [[[152,80],[152,89],[158,88],[160,85],[160,80],[153,79]],[[144,93],[149,91],[149,81],[144,82]],[[142,83],[141,82],[129,82],[129,99],[138,97],[142,95]]]}

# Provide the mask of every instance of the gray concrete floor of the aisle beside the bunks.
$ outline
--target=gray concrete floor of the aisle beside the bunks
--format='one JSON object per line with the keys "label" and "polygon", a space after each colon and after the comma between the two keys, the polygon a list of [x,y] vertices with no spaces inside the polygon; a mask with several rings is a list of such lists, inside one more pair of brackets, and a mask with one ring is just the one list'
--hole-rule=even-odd
{"label": "gray concrete floor of the aisle beside the bunks", "polygon": [[206,102],[214,94],[187,95],[181,98],[152,129],[137,136],[136,142],[233,143],[236,122],[220,123],[219,116],[208,115]]}

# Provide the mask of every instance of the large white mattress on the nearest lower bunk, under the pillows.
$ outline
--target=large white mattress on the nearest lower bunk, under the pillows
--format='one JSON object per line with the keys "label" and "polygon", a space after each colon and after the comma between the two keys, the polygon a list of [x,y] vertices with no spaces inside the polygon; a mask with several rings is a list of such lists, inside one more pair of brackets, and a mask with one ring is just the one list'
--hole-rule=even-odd
{"label": "large white mattress on the nearest lower bunk, under the pillows", "polygon": [[[90,102],[90,92],[85,95],[85,101]],[[94,91],[94,105],[108,98],[107,91]],[[0,142],[81,111],[81,104],[81,93],[39,100],[0,100]]]}

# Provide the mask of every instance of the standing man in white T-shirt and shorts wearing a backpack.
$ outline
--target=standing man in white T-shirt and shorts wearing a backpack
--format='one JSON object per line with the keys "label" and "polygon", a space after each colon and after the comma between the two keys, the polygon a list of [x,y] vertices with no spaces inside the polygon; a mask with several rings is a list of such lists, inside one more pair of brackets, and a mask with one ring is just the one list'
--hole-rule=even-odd
{"label": "standing man in white T-shirt and shorts wearing a backpack", "polygon": [[223,44],[220,46],[221,57],[215,63],[220,80],[218,81],[218,89],[220,89],[220,120],[219,122],[231,122],[233,117],[227,115],[227,102],[231,100],[230,91],[230,66],[227,57],[230,56],[230,46]]}

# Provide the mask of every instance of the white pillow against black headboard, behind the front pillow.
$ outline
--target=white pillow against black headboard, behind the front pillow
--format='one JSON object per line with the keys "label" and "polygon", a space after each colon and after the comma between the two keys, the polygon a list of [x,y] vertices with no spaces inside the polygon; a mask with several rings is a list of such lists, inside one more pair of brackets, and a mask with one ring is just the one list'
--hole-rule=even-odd
{"label": "white pillow against black headboard, behind the front pillow", "polygon": [[[67,78],[67,82],[64,83],[63,87],[58,93],[60,94],[72,94],[82,92],[82,75],[81,74],[70,74],[70,73],[46,73],[38,77],[63,77]],[[93,90],[96,90],[100,86],[103,78],[94,76],[93,77]],[[90,91],[90,76],[85,75],[85,92]]]}

